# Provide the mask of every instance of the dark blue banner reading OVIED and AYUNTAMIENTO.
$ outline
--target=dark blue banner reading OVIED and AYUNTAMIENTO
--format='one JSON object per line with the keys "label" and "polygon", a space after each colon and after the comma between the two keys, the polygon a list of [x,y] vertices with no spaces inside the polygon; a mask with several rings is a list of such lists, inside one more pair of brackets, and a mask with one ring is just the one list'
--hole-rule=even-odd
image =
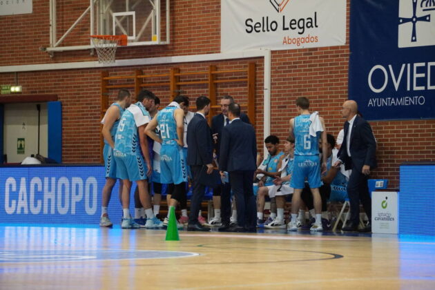
{"label": "dark blue banner reading OVIED and AYUNTAMIENTO", "polygon": [[358,0],[349,99],[367,120],[435,118],[435,1]]}

